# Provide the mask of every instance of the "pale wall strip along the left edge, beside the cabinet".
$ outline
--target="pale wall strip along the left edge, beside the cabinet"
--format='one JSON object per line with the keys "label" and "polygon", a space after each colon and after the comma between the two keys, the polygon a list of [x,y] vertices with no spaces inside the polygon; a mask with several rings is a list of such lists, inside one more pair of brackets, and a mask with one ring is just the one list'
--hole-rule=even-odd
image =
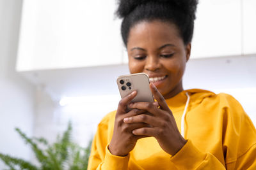
{"label": "pale wall strip along the left edge, beside the cabinet", "polygon": [[0,1],[0,152],[29,160],[30,149],[14,131],[33,132],[34,88],[15,71],[21,10],[20,0]]}

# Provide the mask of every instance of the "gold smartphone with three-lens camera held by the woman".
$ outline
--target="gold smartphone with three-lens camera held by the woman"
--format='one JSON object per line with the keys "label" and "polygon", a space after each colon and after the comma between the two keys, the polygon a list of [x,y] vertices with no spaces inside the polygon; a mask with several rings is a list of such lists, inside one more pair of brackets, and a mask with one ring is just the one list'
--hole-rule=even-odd
{"label": "gold smartphone with three-lens camera held by the woman", "polygon": [[119,76],[116,83],[122,98],[136,90],[137,95],[132,99],[132,102],[154,102],[147,74],[136,73]]}

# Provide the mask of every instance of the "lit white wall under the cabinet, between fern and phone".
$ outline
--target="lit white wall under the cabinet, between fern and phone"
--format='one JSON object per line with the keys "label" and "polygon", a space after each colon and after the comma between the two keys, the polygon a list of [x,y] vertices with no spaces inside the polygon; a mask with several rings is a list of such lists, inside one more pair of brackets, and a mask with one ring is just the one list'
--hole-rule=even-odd
{"label": "lit white wall under the cabinet, between fern and phone", "polygon": [[99,107],[102,100],[98,99],[96,101],[90,98],[90,101],[61,107],[59,102],[54,101],[44,89],[38,89],[36,91],[37,104],[33,136],[44,136],[50,143],[53,143],[56,141],[58,134],[62,135],[63,131],[67,129],[68,121],[71,121],[72,140],[80,146],[86,147],[88,141],[93,138],[97,124],[99,124],[102,117],[106,113],[115,110],[113,101],[108,99],[104,102]]}

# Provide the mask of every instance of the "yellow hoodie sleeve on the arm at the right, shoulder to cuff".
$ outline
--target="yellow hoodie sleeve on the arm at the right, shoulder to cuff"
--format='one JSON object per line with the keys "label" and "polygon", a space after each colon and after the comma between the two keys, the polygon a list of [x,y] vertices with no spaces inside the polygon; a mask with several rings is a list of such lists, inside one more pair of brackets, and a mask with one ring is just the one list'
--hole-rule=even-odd
{"label": "yellow hoodie sleeve on the arm at the right, shoulder to cuff", "polygon": [[256,130],[234,97],[221,94],[222,148],[224,162],[198,150],[188,140],[171,161],[177,169],[256,169]]}

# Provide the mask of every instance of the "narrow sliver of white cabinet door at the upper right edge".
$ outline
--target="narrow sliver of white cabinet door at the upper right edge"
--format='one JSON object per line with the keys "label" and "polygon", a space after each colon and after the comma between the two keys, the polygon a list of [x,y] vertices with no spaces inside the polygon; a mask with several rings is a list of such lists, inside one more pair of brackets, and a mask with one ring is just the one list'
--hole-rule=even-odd
{"label": "narrow sliver of white cabinet door at the upper right edge", "polygon": [[256,53],[256,1],[243,0],[243,53]]}

